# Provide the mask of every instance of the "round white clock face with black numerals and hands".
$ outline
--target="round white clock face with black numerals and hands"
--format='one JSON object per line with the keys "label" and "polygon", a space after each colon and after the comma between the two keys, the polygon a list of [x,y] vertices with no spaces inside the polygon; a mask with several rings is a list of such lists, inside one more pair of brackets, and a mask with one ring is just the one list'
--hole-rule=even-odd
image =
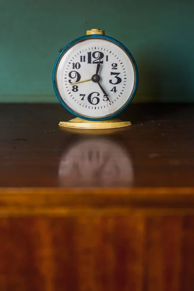
{"label": "round white clock face with black numerals and hands", "polygon": [[55,92],[72,113],[86,119],[106,119],[132,99],[137,74],[132,57],[106,38],[86,38],[60,56]]}

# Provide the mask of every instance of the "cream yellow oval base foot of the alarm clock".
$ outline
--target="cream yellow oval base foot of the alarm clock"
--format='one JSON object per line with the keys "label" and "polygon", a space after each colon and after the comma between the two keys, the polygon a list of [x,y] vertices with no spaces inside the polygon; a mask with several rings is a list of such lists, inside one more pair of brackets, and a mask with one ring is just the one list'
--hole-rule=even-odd
{"label": "cream yellow oval base foot of the alarm clock", "polygon": [[102,121],[90,121],[76,117],[67,122],[61,121],[59,123],[60,127],[71,129],[119,129],[130,125],[130,121],[122,121],[118,118],[110,118]]}

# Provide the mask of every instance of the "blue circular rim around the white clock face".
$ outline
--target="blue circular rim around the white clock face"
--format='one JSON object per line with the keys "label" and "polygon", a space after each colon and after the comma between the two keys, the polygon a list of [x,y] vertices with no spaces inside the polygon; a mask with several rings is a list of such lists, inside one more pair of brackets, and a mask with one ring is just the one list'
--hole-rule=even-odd
{"label": "blue circular rim around the white clock face", "polygon": [[[91,117],[84,117],[78,113],[75,113],[73,112],[70,108],[68,108],[66,106],[66,104],[64,103],[64,101],[62,100],[62,98],[60,97],[59,93],[58,93],[58,90],[57,90],[57,87],[55,85],[55,72],[56,72],[56,67],[57,67],[57,64],[61,58],[61,55],[65,52],[65,50],[67,50],[69,47],[71,47],[72,45],[74,45],[75,43],[83,40],[83,39],[87,39],[87,38],[103,38],[103,39],[106,39],[106,40],[110,40],[112,41],[113,43],[117,44],[118,46],[120,46],[122,49],[124,49],[126,51],[126,53],[129,55],[132,63],[133,63],[133,66],[134,66],[134,69],[135,69],[135,74],[136,74],[136,81],[135,81],[135,87],[134,87],[134,90],[133,90],[133,94],[131,95],[129,101],[125,104],[125,106],[123,108],[121,108],[118,112],[116,113],[113,113],[112,115],[109,115],[107,117],[102,117],[102,118],[91,118]],[[132,99],[134,98],[135,96],[135,93],[137,91],[137,86],[138,86],[138,69],[137,69],[137,65],[136,65],[136,62],[131,54],[131,52],[129,51],[129,49],[127,49],[121,42],[119,42],[118,40],[114,39],[113,37],[111,36],[107,36],[107,35],[101,35],[101,34],[91,34],[91,35],[84,35],[84,36],[80,36],[76,39],[74,39],[73,41],[71,41],[62,51],[61,53],[59,54],[59,56],[57,57],[57,60],[54,64],[54,68],[53,68],[53,72],[52,72],[52,84],[53,84],[53,88],[54,88],[54,92],[56,94],[56,97],[58,98],[59,102],[63,105],[63,107],[65,107],[65,109],[72,113],[74,116],[77,116],[77,117],[80,117],[82,119],[85,119],[85,120],[90,120],[90,121],[102,121],[102,120],[107,120],[107,119],[110,119],[110,118],[113,118],[115,117],[116,115],[120,114],[123,110],[125,110],[128,105],[130,104],[130,102],[132,101]]]}

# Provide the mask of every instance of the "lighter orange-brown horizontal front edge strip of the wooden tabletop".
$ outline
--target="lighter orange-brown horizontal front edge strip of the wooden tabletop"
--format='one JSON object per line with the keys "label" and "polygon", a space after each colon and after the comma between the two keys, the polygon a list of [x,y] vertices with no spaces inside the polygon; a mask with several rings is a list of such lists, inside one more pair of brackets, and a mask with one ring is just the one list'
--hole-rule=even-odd
{"label": "lighter orange-brown horizontal front edge strip of the wooden tabletop", "polygon": [[0,189],[0,215],[194,214],[191,188],[153,189]]}

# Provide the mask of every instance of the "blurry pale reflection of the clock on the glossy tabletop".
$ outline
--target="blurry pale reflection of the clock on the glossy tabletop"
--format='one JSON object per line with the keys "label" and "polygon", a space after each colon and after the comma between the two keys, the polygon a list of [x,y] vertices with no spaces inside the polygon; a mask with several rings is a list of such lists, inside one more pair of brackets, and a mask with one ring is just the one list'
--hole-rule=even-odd
{"label": "blurry pale reflection of the clock on the glossy tabletop", "polygon": [[61,187],[130,187],[133,167],[129,152],[113,139],[80,139],[59,163]]}

